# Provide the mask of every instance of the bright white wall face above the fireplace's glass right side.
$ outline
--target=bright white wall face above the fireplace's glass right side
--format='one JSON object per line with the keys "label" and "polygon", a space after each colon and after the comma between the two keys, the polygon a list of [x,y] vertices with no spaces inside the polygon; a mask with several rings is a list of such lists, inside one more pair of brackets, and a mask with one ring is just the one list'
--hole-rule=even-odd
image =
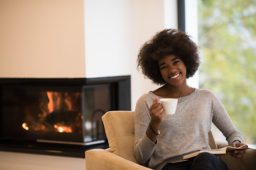
{"label": "bright white wall face above the fireplace's glass right side", "polygon": [[136,4],[85,0],[85,77],[131,74]]}

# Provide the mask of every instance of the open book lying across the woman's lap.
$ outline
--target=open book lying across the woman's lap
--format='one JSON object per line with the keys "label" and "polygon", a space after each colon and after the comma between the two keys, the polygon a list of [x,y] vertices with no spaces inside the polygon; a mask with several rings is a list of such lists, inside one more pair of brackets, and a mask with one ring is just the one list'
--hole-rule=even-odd
{"label": "open book lying across the woman's lap", "polygon": [[193,152],[192,154],[186,154],[183,156],[183,159],[189,159],[191,157],[196,157],[198,154],[201,154],[203,152],[208,152],[210,154],[215,154],[215,155],[223,155],[223,154],[227,154],[228,152],[234,152],[236,150],[245,150],[245,149],[249,149],[248,147],[246,148],[243,148],[244,145],[240,146],[240,147],[223,147],[223,148],[220,148],[220,149],[210,149],[210,150],[200,150],[200,151],[197,151],[197,152]]}

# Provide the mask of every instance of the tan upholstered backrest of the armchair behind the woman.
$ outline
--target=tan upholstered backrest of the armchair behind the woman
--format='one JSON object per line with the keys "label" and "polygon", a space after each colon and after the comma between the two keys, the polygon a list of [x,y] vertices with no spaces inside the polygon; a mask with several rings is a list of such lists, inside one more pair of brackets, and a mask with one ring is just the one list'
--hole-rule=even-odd
{"label": "tan upholstered backrest of the armchair behind the woman", "polygon": [[[134,112],[109,111],[102,116],[110,152],[137,163],[134,157]],[[209,132],[210,148],[216,149],[215,140]]]}

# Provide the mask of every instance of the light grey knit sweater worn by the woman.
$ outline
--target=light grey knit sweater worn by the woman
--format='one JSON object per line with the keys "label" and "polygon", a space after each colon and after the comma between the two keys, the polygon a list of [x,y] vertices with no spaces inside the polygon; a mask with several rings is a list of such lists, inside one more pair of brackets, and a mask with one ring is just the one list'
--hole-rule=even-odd
{"label": "light grey knit sweater worn by the woman", "polygon": [[149,107],[155,98],[156,95],[149,91],[139,98],[135,108],[134,156],[140,164],[161,169],[168,162],[181,162],[184,154],[210,149],[208,132],[211,123],[223,132],[229,145],[234,140],[243,142],[242,134],[235,128],[215,94],[196,89],[193,94],[178,98],[174,115],[165,115],[155,144],[145,134],[151,120]]}

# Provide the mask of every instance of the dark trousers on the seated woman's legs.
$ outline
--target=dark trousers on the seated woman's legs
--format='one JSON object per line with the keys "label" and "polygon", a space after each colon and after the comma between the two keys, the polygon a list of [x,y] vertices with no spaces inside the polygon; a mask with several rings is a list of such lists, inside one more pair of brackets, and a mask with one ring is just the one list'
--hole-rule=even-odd
{"label": "dark trousers on the seated woman's legs", "polygon": [[214,154],[203,152],[186,162],[168,163],[162,170],[228,170],[228,166]]}

